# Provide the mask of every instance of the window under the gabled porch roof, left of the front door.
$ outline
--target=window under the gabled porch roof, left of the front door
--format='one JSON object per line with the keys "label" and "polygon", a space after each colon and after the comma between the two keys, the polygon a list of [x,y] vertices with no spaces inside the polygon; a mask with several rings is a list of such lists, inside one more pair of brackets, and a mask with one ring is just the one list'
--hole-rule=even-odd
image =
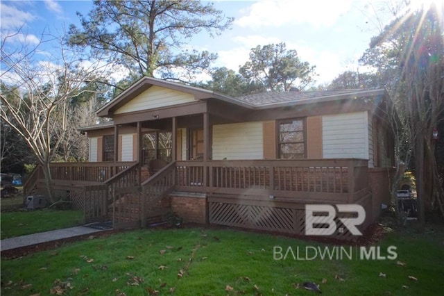
{"label": "window under the gabled porch roof, left of the front door", "polygon": [[151,131],[143,135],[143,163],[147,165],[151,159],[171,161],[171,131]]}

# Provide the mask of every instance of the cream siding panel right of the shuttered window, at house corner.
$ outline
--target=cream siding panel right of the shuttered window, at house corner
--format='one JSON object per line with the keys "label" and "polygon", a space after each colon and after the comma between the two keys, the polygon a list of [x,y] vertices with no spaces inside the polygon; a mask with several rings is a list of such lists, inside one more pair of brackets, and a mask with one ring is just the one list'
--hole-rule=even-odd
{"label": "cream siding panel right of the shuttered window, at house corner", "polygon": [[368,159],[367,112],[322,117],[323,158]]}

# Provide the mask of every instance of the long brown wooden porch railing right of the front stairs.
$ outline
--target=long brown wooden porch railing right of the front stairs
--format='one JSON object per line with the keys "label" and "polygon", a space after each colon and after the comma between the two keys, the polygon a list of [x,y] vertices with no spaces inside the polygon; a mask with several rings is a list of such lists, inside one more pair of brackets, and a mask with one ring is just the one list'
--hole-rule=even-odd
{"label": "long brown wooden porch railing right of the front stairs", "polygon": [[270,196],[282,201],[353,202],[368,192],[368,161],[350,159],[176,161],[176,189]]}

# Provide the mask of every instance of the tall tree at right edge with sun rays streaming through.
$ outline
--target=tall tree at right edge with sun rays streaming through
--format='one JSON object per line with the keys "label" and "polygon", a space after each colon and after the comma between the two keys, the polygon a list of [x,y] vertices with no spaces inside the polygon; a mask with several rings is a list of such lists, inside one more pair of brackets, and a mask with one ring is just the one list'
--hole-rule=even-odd
{"label": "tall tree at right edge with sun rays streaming through", "polygon": [[395,76],[392,92],[405,119],[403,129],[411,135],[407,142],[415,159],[421,222],[425,211],[439,208],[444,215],[443,185],[432,140],[432,129],[444,121],[443,30],[443,15],[436,6],[408,11],[373,38],[367,51],[378,58],[385,56],[375,64],[383,67],[387,63]]}

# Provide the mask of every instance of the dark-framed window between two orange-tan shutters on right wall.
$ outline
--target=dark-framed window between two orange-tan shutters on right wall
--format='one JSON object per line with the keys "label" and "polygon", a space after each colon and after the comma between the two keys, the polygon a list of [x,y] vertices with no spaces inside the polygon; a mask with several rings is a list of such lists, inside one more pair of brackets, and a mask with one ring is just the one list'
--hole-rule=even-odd
{"label": "dark-framed window between two orange-tan shutters on right wall", "polygon": [[305,120],[280,121],[278,137],[279,158],[305,158]]}

